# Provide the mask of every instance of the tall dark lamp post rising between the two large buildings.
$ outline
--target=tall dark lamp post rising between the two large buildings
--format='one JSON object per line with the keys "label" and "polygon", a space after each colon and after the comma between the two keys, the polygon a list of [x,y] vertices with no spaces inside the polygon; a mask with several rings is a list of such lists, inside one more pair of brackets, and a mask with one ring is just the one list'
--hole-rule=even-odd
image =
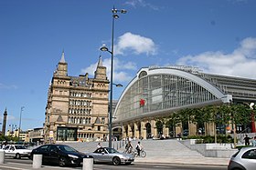
{"label": "tall dark lamp post rising between the two large buildings", "polygon": [[112,147],[112,70],[113,70],[113,35],[114,35],[114,20],[119,18],[117,13],[125,14],[127,11],[124,9],[116,9],[114,6],[112,8],[112,51],[108,49],[107,46],[102,45],[101,51],[107,51],[112,55],[112,63],[111,63],[111,96],[110,96],[110,115],[109,115],[109,147]]}

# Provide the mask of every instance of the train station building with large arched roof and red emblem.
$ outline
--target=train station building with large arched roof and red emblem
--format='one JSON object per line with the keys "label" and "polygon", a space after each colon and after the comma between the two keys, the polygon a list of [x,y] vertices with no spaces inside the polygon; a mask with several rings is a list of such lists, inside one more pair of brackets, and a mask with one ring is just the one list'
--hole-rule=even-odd
{"label": "train station building with large arched roof and red emblem", "polygon": [[[212,75],[191,66],[152,66],[141,68],[123,91],[113,114],[113,135],[118,138],[195,135],[196,128],[165,125],[157,118],[193,107],[223,103],[256,102],[256,80],[227,75]],[[254,123],[255,124],[255,123]]]}

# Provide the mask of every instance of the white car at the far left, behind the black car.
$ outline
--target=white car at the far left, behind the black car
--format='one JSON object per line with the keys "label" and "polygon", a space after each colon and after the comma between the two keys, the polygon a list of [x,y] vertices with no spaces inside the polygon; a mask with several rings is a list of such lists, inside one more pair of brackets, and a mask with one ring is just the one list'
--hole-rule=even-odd
{"label": "white car at the far left, behind the black car", "polygon": [[12,156],[16,159],[21,157],[29,157],[32,152],[31,149],[27,149],[25,145],[5,145],[3,148],[6,156]]}

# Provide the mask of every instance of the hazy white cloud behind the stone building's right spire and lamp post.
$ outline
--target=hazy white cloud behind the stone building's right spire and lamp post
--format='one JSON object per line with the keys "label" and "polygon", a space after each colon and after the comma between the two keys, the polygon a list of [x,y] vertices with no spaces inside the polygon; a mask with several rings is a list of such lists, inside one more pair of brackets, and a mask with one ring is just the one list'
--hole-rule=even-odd
{"label": "hazy white cloud behind the stone building's right spire and lamp post", "polygon": [[[87,68],[81,69],[81,74],[88,73],[94,76],[94,71],[96,70],[97,63],[90,65]],[[107,76],[110,80],[111,78],[111,58],[102,59],[102,65],[107,67]],[[129,75],[130,70],[137,70],[136,64],[133,62],[123,62],[117,57],[114,57],[113,61],[113,82],[128,82],[131,81],[133,76]],[[126,72],[124,72],[126,71]]]}

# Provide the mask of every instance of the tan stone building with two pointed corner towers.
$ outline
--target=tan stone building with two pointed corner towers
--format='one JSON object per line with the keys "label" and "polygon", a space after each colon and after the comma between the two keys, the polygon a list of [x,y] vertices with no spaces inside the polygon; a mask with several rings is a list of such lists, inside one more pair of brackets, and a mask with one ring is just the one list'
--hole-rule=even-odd
{"label": "tan stone building with two pointed corner towers", "polygon": [[62,53],[48,86],[44,141],[94,141],[108,135],[109,80],[101,57],[94,77],[68,75]]}

